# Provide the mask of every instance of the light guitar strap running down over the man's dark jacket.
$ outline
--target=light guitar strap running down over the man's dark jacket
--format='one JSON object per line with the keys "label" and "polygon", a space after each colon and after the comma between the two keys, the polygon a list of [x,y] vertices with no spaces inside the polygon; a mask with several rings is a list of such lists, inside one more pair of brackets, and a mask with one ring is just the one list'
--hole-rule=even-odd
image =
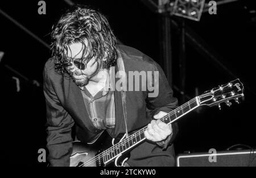
{"label": "light guitar strap running down over the man's dark jacket", "polygon": [[[123,65],[123,59],[121,54],[118,51],[118,60],[117,60],[117,66],[119,71],[123,71],[123,73],[125,73],[125,65]],[[124,77],[124,76],[122,76]],[[125,76],[126,79],[126,76]],[[126,82],[125,82],[126,84]],[[128,137],[128,129],[127,129],[127,110],[126,110],[126,90],[123,88],[123,86],[121,86],[121,99],[122,99],[122,106],[123,106],[123,118],[125,119],[125,135],[126,138]]]}

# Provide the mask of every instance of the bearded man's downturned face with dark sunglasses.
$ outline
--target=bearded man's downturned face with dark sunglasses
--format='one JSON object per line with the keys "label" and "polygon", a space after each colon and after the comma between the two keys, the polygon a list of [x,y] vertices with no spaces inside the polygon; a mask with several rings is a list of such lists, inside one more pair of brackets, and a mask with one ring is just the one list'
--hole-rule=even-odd
{"label": "bearded man's downturned face with dark sunglasses", "polygon": [[94,76],[94,74],[96,74],[98,69],[98,62],[96,61],[96,57],[93,57],[87,64],[85,61],[86,65],[81,64],[81,59],[85,58],[85,56],[87,55],[87,53],[85,52],[84,56],[82,56],[83,50],[84,45],[82,45],[82,43],[80,42],[69,45],[68,49],[68,59],[72,60],[71,65],[67,69],[69,73],[71,73],[71,77],[78,86],[87,85],[89,79]]}

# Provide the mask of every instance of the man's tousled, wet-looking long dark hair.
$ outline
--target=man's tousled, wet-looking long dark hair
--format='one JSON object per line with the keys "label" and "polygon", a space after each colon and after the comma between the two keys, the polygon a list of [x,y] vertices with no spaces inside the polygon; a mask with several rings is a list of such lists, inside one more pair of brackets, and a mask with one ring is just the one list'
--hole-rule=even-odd
{"label": "man's tousled, wet-looking long dark hair", "polygon": [[[68,45],[78,42],[84,45],[83,55],[88,47],[90,49],[85,58],[87,63],[96,57],[102,68],[116,64],[117,39],[106,17],[97,10],[82,5],[74,6],[52,27],[51,38],[52,57],[57,72],[68,72]],[[88,40],[87,46],[85,39]],[[106,60],[102,61],[104,56]]]}

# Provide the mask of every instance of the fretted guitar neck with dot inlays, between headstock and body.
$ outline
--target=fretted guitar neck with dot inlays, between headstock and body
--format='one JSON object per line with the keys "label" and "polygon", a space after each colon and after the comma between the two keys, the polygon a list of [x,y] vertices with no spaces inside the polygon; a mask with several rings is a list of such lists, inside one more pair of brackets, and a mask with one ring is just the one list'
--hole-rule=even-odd
{"label": "fretted guitar neck with dot inlays, between headstock and body", "polygon": [[[177,119],[189,113],[193,109],[196,109],[196,107],[198,106],[200,106],[200,101],[198,97],[195,97],[192,100],[186,102],[185,104],[177,107],[175,110],[172,110],[166,116],[161,118],[161,121],[170,125],[172,122],[177,121]],[[137,144],[142,142],[144,139],[146,139],[144,136],[144,131],[146,129],[147,129],[147,126],[143,127],[142,129],[138,130],[134,134],[123,139],[121,142],[115,144],[114,146],[102,152],[104,163],[110,162],[119,154],[122,154],[123,152],[130,150],[130,148],[136,146]]]}

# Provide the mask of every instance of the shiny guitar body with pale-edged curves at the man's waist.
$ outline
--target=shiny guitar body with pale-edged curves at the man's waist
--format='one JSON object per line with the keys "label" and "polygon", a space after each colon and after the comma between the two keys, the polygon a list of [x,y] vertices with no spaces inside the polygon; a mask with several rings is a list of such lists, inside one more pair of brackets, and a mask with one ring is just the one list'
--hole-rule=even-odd
{"label": "shiny guitar body with pale-edged curves at the man's waist", "polygon": [[[112,147],[114,144],[121,142],[125,138],[125,135],[120,135],[116,139],[110,138],[108,133],[104,131],[100,138],[96,140],[93,144],[84,144],[80,141],[73,142],[73,151],[70,157],[70,167],[104,167],[104,166],[123,166],[127,159],[129,159],[129,152],[125,154],[118,155],[117,158],[111,162],[104,163],[104,160],[94,160],[95,156],[101,154],[104,150]],[[86,164],[85,164],[86,163]]]}

